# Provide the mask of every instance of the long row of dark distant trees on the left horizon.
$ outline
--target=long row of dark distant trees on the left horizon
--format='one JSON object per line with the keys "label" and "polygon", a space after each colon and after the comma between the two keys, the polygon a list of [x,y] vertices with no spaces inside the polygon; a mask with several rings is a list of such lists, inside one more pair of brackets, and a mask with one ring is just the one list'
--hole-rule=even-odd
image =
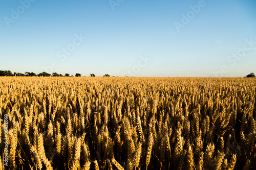
{"label": "long row of dark distant trees on the left horizon", "polygon": [[[53,72],[53,74],[51,75],[51,74],[49,74],[47,72],[41,72],[38,75],[36,75],[34,72],[27,72],[27,71],[25,72],[25,74],[20,73],[20,72],[14,72],[12,74],[12,71],[10,71],[10,70],[5,70],[5,71],[0,70],[0,77],[1,76],[24,76],[24,77],[25,76],[27,76],[27,77],[32,77],[32,76],[50,77],[50,76],[53,76],[53,77],[70,77],[70,74],[66,73],[65,75],[61,75],[61,74],[57,74],[57,72]],[[94,74],[90,74],[90,76],[91,77],[95,77]],[[73,75],[72,75],[72,77],[73,77]],[[81,74],[76,73],[75,77],[81,77]],[[103,77],[110,77],[110,75],[105,74]]]}

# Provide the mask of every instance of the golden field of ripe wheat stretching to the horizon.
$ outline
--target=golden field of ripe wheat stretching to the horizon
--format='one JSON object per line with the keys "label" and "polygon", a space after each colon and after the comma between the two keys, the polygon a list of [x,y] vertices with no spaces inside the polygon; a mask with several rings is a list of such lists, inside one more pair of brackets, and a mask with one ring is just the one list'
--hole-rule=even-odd
{"label": "golden field of ripe wheat stretching to the horizon", "polygon": [[1,77],[0,85],[0,169],[256,168],[255,78]]}

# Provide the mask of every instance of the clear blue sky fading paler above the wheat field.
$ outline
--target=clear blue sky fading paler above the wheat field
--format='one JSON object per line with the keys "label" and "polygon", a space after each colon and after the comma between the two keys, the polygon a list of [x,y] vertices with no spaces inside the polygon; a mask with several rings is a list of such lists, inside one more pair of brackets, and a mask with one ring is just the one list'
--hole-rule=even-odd
{"label": "clear blue sky fading paler above the wheat field", "polygon": [[0,70],[243,77],[256,73],[255,7],[242,0],[2,0]]}

